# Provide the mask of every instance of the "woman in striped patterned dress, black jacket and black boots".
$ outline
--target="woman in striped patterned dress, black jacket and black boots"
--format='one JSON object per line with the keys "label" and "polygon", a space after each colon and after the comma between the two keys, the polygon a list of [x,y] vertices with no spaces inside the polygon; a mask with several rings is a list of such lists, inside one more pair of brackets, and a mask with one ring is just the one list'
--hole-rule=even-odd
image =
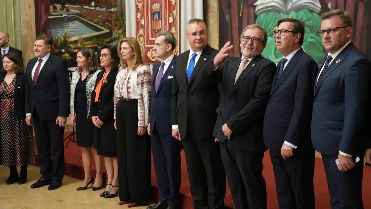
{"label": "woman in striped patterned dress, black jacket and black boots", "polygon": [[[4,55],[0,74],[0,164],[9,167],[6,184],[24,184],[27,165],[35,164],[32,127],[27,126],[24,90],[27,85],[20,57],[13,52]],[[17,165],[21,166],[18,176]]]}

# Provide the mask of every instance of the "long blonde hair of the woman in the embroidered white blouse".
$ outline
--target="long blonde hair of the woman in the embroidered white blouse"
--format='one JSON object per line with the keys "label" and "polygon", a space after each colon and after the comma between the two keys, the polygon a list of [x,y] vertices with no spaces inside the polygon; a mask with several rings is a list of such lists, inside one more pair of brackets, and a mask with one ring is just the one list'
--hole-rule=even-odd
{"label": "long blonde hair of the woman in the embroidered white blouse", "polygon": [[[122,58],[121,56],[121,44],[122,42],[126,42],[134,51],[134,58],[133,58],[133,64],[131,66],[128,66],[128,63]],[[125,69],[126,67],[130,67],[131,70],[137,70],[138,67],[145,65],[143,58],[142,58],[142,53],[140,50],[139,42],[137,39],[133,37],[126,37],[122,39],[118,46],[117,46],[117,54],[120,57],[120,65],[121,69]]]}

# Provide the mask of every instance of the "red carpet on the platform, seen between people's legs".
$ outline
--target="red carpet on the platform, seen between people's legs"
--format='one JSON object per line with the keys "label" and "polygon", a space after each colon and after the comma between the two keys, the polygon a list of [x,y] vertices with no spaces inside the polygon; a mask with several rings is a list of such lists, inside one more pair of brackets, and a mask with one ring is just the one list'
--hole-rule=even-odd
{"label": "red carpet on the platform, seen between people's legs", "polygon": [[[70,132],[65,133],[65,137],[68,136]],[[65,145],[67,140],[65,141]],[[39,158],[37,156],[37,149],[36,152],[36,165],[39,165]],[[192,197],[191,191],[189,187],[188,181],[188,174],[187,174],[187,167],[185,165],[185,158],[184,158],[184,151],[181,151],[181,158],[182,158],[182,183],[180,187],[181,193],[181,202],[183,204],[183,208],[193,208],[192,205]],[[276,184],[275,179],[273,176],[273,168],[270,162],[269,151],[265,152],[265,157],[263,158],[264,170],[263,176],[266,181],[266,188],[267,188],[267,208],[269,209],[278,209],[278,202],[277,202],[277,194],[276,194]],[[104,172],[105,168],[103,168]],[[65,148],[65,175],[71,176],[77,179],[84,178],[84,170],[82,166],[81,160],[81,148],[77,147],[76,143],[70,142],[68,147]],[[95,176],[95,164],[92,164],[92,175]],[[371,166],[364,166],[364,178],[363,178],[363,187],[362,187],[362,195],[363,195],[363,203],[364,208],[371,208],[371,188],[370,188],[370,180],[371,177]],[[106,177],[104,174],[104,180],[106,182]],[[153,159],[152,159],[152,198],[151,201],[157,202],[159,199],[158,189],[157,189],[157,181],[153,166]],[[322,163],[322,159],[316,158],[316,165],[315,165],[315,174],[314,174],[314,190],[315,190],[315,198],[316,198],[316,208],[325,209],[330,208],[330,196],[328,194],[326,176],[324,165]],[[232,196],[230,194],[229,187],[227,187],[226,197],[225,197],[225,205],[227,208],[234,208]]]}

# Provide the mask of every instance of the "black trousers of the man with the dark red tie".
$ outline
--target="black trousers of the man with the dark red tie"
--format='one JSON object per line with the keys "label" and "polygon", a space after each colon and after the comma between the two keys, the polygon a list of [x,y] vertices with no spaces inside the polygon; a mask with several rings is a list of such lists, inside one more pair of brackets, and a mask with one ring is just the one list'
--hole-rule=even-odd
{"label": "black trousers of the man with the dark red tie", "polygon": [[[62,180],[65,168],[63,133],[65,127],[59,127],[53,120],[42,120],[33,110],[36,148],[40,159],[40,174],[45,180]],[[53,157],[53,160],[52,160]]]}

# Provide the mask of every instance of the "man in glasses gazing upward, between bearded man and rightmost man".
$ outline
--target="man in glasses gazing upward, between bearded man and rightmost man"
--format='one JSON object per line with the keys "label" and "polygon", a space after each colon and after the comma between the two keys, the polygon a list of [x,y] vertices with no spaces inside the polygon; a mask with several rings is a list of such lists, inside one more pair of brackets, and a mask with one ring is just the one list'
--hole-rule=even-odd
{"label": "man in glasses gazing upward, between bearded man and rightmost man", "polygon": [[301,46],[304,23],[293,18],[277,22],[279,62],[264,116],[264,144],[269,149],[278,204],[283,208],[315,208],[315,150],[309,140],[313,86],[318,65]]}

